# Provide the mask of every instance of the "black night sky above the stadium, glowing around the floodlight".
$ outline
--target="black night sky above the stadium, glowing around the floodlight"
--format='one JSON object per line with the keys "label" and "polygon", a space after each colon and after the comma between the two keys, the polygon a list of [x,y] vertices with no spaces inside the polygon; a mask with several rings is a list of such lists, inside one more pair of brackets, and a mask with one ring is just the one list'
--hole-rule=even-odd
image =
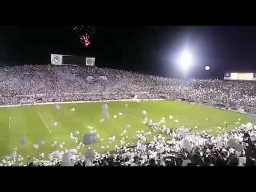
{"label": "black night sky above the stadium, glowing around the floodlight", "polygon": [[196,58],[190,77],[256,71],[255,26],[98,26],[89,48],[71,26],[0,26],[1,65],[49,64],[50,54],[60,53],[93,56],[99,67],[178,77],[174,58],[184,47]]}

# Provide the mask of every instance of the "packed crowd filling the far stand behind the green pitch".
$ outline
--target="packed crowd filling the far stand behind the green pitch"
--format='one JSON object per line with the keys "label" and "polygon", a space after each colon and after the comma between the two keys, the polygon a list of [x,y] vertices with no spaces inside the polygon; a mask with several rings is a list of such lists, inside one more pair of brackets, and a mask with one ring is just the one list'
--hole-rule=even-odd
{"label": "packed crowd filling the far stand behind the green pitch", "polygon": [[[104,78],[100,78],[104,77]],[[255,107],[256,84],[178,80],[97,67],[14,66],[0,70],[0,105],[37,102],[183,98]]]}

